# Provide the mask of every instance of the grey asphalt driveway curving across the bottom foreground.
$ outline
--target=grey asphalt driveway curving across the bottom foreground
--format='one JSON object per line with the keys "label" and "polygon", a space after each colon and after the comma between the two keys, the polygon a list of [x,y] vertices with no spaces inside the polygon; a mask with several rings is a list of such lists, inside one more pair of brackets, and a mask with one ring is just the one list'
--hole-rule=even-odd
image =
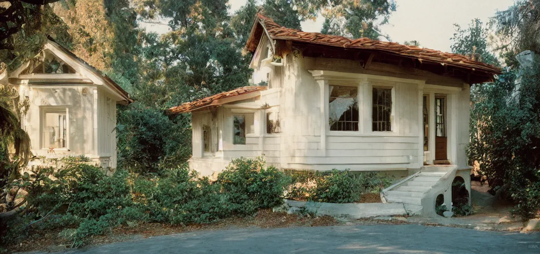
{"label": "grey asphalt driveway curving across the bottom foreground", "polygon": [[56,253],[540,253],[540,234],[422,225],[194,231]]}

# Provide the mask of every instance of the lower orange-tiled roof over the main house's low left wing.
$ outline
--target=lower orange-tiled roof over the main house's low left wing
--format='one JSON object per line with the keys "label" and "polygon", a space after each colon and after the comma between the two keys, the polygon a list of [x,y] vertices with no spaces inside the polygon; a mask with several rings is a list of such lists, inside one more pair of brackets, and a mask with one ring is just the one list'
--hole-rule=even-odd
{"label": "lower orange-tiled roof over the main house's low left wing", "polygon": [[[179,114],[205,109],[211,106],[220,106],[229,102],[245,100],[257,97],[260,91],[266,90],[266,86],[245,86],[235,90],[214,94],[200,100],[186,102],[180,106],[167,109],[167,113]],[[241,96],[242,95],[242,96]]]}

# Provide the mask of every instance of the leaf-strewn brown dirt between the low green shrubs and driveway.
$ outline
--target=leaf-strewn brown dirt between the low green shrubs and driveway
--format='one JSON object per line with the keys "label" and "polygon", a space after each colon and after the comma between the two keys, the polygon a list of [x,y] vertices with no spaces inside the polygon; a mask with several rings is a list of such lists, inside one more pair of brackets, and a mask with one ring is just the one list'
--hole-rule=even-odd
{"label": "leaf-strewn brown dirt between the low green shrubs and driveway", "polygon": [[[109,234],[94,236],[90,245],[100,245],[113,242],[122,242],[135,237],[149,238],[152,236],[170,235],[180,232],[197,230],[220,230],[234,228],[288,228],[294,226],[331,226],[338,225],[338,221],[331,216],[299,216],[286,212],[273,212],[272,209],[261,209],[251,217],[227,218],[212,224],[168,225],[161,223],[139,223],[138,225],[117,226]],[[58,236],[61,230],[29,232],[20,244],[5,246],[6,253],[24,252],[34,250],[61,251],[69,248],[69,241]],[[2,249],[0,249],[2,252]]]}

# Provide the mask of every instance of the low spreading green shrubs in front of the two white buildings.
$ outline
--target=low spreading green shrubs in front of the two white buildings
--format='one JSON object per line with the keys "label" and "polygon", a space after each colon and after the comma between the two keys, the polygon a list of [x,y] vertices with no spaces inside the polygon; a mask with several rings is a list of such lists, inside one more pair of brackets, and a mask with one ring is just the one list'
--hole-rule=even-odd
{"label": "low spreading green shrubs in front of the two white buildings", "polygon": [[236,159],[217,180],[198,178],[186,167],[136,174],[75,160],[59,169],[36,168],[12,183],[28,191],[28,204],[10,219],[2,243],[21,242],[34,232],[60,230],[73,247],[120,225],[190,225],[254,215],[283,202],[288,177],[262,158]]}

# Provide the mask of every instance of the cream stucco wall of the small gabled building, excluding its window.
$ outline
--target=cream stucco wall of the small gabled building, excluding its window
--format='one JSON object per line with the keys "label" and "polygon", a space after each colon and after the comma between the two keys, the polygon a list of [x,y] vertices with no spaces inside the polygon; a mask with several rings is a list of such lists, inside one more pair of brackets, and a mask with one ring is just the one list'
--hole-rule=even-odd
{"label": "cream stucco wall of the small gabled building, excluding its window", "polygon": [[[19,85],[30,105],[23,127],[30,135],[31,152],[57,158],[85,155],[105,167],[116,168],[116,101],[96,85]],[[43,144],[44,112],[67,109],[68,141],[65,148]],[[35,161],[32,164],[40,164]]]}

